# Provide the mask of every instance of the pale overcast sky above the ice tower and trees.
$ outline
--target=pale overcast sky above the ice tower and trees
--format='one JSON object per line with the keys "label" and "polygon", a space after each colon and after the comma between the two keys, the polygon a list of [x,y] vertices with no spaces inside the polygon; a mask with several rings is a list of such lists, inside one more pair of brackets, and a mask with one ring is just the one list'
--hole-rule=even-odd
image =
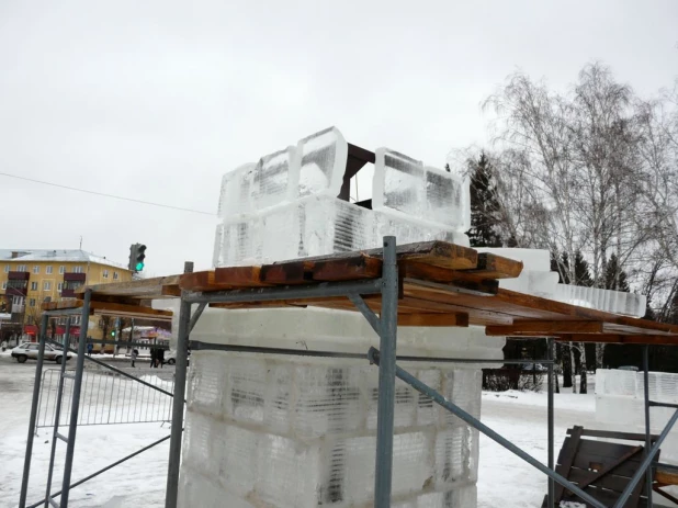
{"label": "pale overcast sky above the ice tower and trees", "polygon": [[[678,76],[678,2],[0,1],[0,172],[216,211],[225,170],[336,125],[443,165],[522,69],[594,59],[643,94]],[[0,248],[207,268],[214,217],[0,176]]]}

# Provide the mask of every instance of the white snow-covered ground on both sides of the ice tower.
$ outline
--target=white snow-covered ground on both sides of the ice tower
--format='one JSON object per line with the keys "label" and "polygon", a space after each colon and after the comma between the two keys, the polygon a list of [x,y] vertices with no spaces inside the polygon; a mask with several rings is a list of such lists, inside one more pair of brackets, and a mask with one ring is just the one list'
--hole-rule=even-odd
{"label": "white snow-covered ground on both sides of the ice tower", "polygon": [[[18,364],[0,353],[0,507],[15,507],[21,489],[35,362]],[[573,425],[596,428],[594,386],[588,395],[555,395],[555,449]],[[482,420],[528,453],[546,462],[546,395],[544,393],[484,393]],[[41,429],[34,441],[29,503],[44,497],[50,432]],[[129,424],[78,428],[72,479],[79,479],[115,460],[169,434],[167,425]],[[57,442],[53,492],[60,488],[66,445]],[[76,487],[72,507],[160,507],[165,501],[169,441]],[[478,506],[482,508],[539,507],[546,478],[536,470],[481,437]]]}

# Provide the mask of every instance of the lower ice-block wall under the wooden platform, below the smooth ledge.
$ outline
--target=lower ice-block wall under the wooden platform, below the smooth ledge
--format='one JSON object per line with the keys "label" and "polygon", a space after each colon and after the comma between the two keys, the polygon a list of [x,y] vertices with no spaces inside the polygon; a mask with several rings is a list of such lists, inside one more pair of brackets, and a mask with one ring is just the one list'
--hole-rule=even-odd
{"label": "lower ice-block wall under the wooden platform, below the smooth ledge", "polygon": [[[191,361],[182,506],[372,506],[376,369],[223,352]],[[479,371],[406,366],[479,417]],[[398,382],[393,506],[475,506],[477,461],[477,431]]]}

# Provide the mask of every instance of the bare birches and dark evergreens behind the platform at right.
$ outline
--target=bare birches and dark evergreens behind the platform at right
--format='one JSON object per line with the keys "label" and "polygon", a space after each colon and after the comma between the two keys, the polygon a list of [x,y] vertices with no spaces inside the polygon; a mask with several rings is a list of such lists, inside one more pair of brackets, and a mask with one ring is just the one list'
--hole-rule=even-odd
{"label": "bare birches and dark evergreens behind the platform at right", "polygon": [[[472,182],[472,246],[547,249],[561,282],[641,292],[647,318],[678,323],[678,80],[641,98],[598,63],[565,92],[517,72],[484,109],[491,146],[455,153]],[[573,369],[641,358],[561,349]],[[678,372],[678,348],[665,349],[655,368]]]}

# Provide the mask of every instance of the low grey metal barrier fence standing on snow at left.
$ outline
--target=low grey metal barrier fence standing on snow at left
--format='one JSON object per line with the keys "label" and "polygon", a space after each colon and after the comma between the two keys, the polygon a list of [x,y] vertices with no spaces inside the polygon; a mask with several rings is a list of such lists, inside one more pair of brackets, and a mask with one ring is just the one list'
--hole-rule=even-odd
{"label": "low grey metal barrier fence standing on snow at left", "polygon": [[[66,371],[67,374],[74,372]],[[128,372],[154,386],[174,392],[173,371],[132,369]],[[48,369],[43,372],[36,429],[54,426],[59,374],[58,369]],[[59,426],[68,425],[72,388],[74,380],[65,377]],[[92,369],[82,373],[78,415],[78,425],[170,421],[172,397],[118,373]]]}

